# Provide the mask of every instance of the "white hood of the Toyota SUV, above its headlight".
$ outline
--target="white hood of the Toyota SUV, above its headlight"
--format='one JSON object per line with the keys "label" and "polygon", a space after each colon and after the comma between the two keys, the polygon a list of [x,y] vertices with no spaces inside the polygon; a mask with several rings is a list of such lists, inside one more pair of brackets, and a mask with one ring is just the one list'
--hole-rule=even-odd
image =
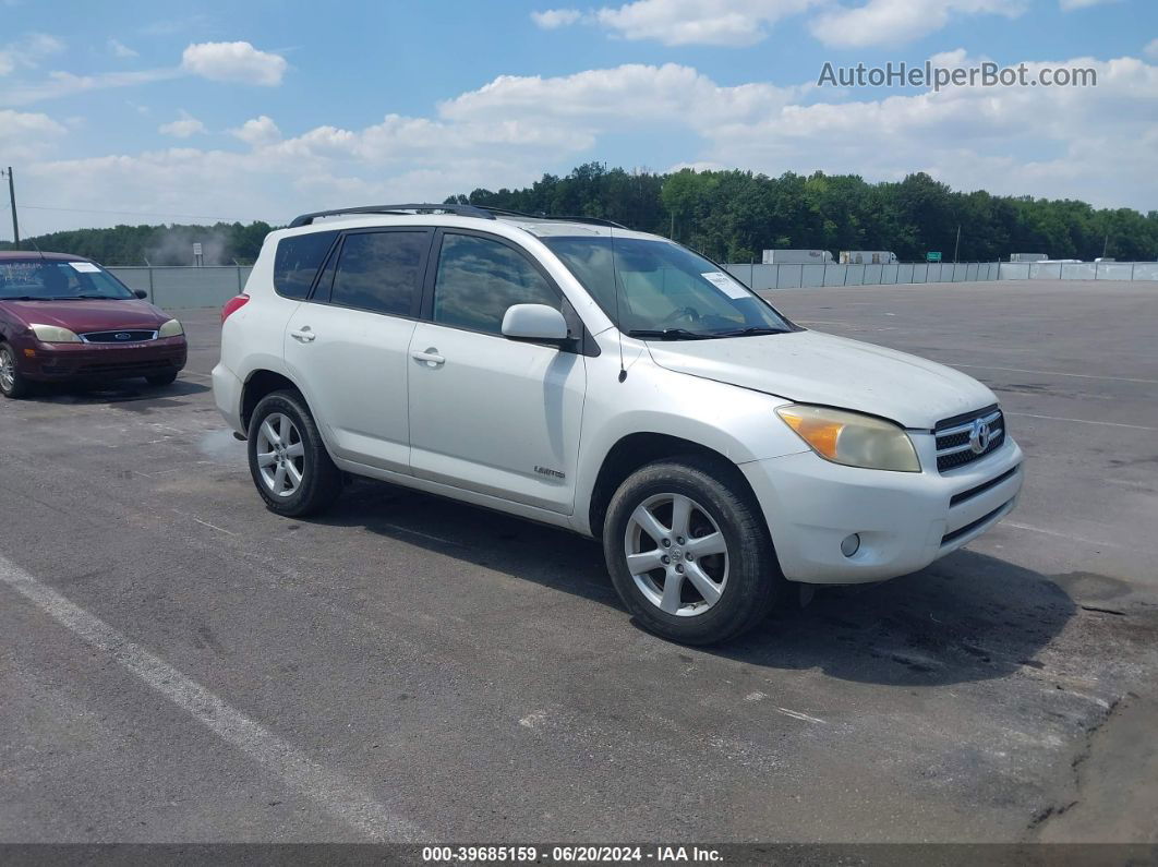
{"label": "white hood of the Toyota SUV, above its headlight", "polygon": [[933,361],[818,331],[647,344],[669,370],[932,428],[997,403],[994,392]]}

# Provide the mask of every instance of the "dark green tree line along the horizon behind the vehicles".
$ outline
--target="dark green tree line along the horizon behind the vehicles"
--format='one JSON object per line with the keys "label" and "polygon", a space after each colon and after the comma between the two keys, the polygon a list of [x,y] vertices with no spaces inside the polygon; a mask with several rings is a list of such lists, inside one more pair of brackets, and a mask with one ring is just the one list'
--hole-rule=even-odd
{"label": "dark green tree line along the horizon behind the vehicles", "polygon": [[[719,262],[758,260],[761,250],[771,248],[834,255],[892,250],[902,260],[936,250],[951,260],[958,227],[961,262],[1007,259],[1011,252],[1087,262],[1097,256],[1158,258],[1158,211],[960,192],[923,172],[871,184],[857,175],[819,171],[779,177],[740,170],[655,174],[587,163],[565,176],[543,175],[520,190],[477,189],[446,203],[601,216],[667,235]],[[249,264],[271,228],[264,222],[116,226],[54,232],[22,247],[78,254],[107,265],[189,265],[198,242],[205,264]],[[10,247],[0,243],[0,249]]]}

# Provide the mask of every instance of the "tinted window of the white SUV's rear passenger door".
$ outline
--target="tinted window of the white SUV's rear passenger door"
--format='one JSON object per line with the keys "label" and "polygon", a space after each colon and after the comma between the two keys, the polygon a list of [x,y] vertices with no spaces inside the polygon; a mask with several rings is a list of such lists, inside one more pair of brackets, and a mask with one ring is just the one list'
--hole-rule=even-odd
{"label": "tinted window of the white SUV's rear passenger door", "polygon": [[346,235],[330,302],[372,313],[410,316],[418,299],[428,232]]}

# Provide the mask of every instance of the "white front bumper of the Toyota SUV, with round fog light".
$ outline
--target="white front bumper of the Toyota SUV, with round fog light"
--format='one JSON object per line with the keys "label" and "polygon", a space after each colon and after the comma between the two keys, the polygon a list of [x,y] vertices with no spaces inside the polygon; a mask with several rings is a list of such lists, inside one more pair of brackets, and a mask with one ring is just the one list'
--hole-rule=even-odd
{"label": "white front bumper of the Toyota SUV, with round fog light", "polygon": [[[914,442],[929,466],[932,446],[921,438]],[[1007,438],[992,454],[945,473],[862,470],[812,451],[740,469],[760,500],[785,578],[862,583],[924,568],[997,523],[1021,491],[1021,449]],[[860,536],[860,546],[845,557],[841,542],[851,534]]]}

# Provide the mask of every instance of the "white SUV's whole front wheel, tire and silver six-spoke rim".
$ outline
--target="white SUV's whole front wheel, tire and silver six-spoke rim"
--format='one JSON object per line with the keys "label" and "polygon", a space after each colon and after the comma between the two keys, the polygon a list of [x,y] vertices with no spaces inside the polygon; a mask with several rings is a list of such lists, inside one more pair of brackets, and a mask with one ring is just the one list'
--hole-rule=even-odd
{"label": "white SUV's whole front wheel, tire and silver six-spoke rim", "polygon": [[699,456],[648,464],[620,486],[603,526],[603,554],[631,613],[689,645],[750,630],[784,582],[739,471]]}

